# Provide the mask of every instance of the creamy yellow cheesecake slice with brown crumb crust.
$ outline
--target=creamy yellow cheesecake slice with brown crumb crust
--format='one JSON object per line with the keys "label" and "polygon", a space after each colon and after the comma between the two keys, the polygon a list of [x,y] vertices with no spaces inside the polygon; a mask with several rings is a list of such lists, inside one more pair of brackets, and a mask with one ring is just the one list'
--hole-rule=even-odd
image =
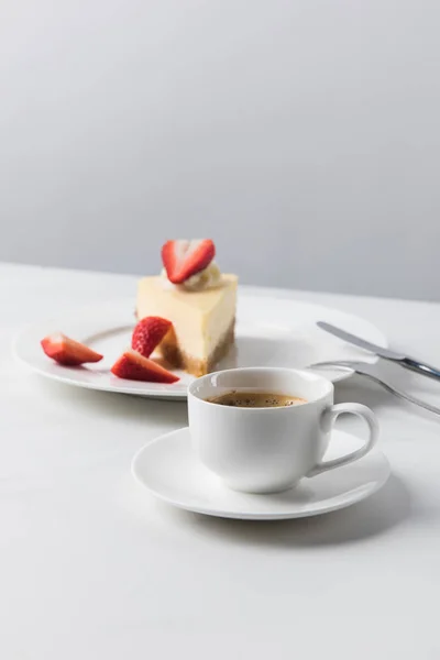
{"label": "creamy yellow cheesecake slice with brown crumb crust", "polygon": [[215,286],[191,290],[163,276],[139,283],[139,319],[158,316],[174,330],[161,342],[163,358],[195,376],[213,371],[234,343],[237,275],[221,275]]}

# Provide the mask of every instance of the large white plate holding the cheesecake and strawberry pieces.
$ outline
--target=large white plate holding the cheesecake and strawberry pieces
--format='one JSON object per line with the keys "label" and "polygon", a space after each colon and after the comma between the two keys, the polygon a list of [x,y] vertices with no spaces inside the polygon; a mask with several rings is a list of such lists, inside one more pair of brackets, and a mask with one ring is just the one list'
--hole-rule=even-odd
{"label": "large white plate holding the cheesecake and strawberry pieces", "polygon": [[[240,292],[237,350],[218,369],[268,365],[305,369],[326,360],[376,361],[374,355],[319,330],[315,326],[318,320],[339,326],[376,344],[387,345],[382,332],[359,317],[299,300],[257,297]],[[194,377],[184,372],[177,372],[180,381],[172,385],[124,381],[111,374],[111,365],[130,345],[134,323],[133,299],[105,302],[26,328],[16,338],[14,351],[22,362],[38,374],[68,385],[156,398],[186,398],[187,386]],[[56,331],[103,353],[103,360],[85,367],[56,364],[46,358],[40,345],[43,337]],[[326,370],[326,376],[333,382],[348,375],[350,373]]]}

